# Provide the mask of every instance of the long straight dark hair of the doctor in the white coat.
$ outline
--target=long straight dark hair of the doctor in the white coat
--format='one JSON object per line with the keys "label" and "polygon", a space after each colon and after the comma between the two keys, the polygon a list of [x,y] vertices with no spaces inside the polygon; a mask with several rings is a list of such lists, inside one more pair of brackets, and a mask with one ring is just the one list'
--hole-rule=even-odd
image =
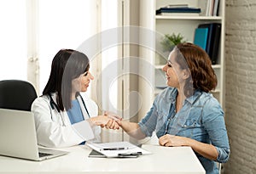
{"label": "long straight dark hair of the doctor in the white coat", "polygon": [[[84,53],[73,49],[61,49],[52,60],[49,80],[43,95],[56,93],[56,103],[60,110],[72,107],[72,81],[90,68],[89,59]],[[79,93],[76,94],[76,97]]]}

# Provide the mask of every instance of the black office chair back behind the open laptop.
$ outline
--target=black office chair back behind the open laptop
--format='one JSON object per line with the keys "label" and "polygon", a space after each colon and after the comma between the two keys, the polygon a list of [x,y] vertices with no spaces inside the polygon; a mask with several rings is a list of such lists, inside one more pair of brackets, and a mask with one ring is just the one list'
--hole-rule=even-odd
{"label": "black office chair back behind the open laptop", "polygon": [[0,81],[0,108],[30,111],[37,97],[35,88],[27,81]]}

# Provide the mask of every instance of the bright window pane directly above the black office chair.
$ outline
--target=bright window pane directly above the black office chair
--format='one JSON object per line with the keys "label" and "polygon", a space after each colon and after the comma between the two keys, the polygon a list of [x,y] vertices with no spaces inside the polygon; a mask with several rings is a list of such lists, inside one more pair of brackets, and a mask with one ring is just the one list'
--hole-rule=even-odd
{"label": "bright window pane directly above the black office chair", "polygon": [[0,21],[0,80],[26,80],[26,0],[1,1]]}

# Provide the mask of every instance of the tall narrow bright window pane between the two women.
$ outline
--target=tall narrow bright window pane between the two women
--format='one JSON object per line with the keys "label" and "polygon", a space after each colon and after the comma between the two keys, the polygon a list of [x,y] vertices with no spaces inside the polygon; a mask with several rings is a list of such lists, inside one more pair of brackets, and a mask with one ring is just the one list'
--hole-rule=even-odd
{"label": "tall narrow bright window pane between the two women", "polygon": [[[118,109],[118,1],[102,0],[102,109]],[[104,43],[112,40],[113,45]],[[108,42],[109,43],[109,42]]]}

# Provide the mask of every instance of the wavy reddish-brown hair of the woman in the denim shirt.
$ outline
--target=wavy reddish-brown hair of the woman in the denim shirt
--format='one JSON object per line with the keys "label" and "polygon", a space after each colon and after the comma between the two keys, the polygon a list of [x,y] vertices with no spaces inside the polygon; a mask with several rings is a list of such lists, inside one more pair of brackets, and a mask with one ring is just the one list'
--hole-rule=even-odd
{"label": "wavy reddish-brown hair of the woman in the denim shirt", "polygon": [[179,56],[176,56],[177,64],[182,69],[189,69],[192,77],[186,81],[184,87],[184,93],[187,97],[193,95],[196,89],[201,89],[207,93],[215,89],[218,83],[217,76],[205,50],[189,42],[177,44],[174,50],[177,54],[182,54],[183,57],[183,59],[178,59]]}

